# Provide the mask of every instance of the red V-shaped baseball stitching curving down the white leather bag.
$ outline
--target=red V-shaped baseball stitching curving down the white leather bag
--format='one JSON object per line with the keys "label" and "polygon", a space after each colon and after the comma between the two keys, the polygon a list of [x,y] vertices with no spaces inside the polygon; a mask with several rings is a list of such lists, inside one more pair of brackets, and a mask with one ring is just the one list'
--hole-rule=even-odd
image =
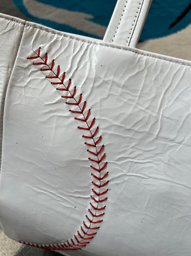
{"label": "red V-shaped baseball stitching curving down the white leather bag", "polygon": [[[60,66],[57,66],[56,72],[53,71],[55,60],[51,61],[51,65],[47,64],[48,60],[48,54],[45,54],[44,59],[40,56],[40,50],[39,47],[38,53],[34,51],[36,54],[35,56],[28,57],[28,60],[33,59],[40,59],[42,61],[40,62],[34,62],[33,65],[46,65],[46,68],[41,68],[40,71],[51,71],[53,73],[52,76],[46,76],[46,78],[52,79],[56,78],[59,81],[58,82],[51,82],[52,85],[60,85],[61,87],[56,88],[58,91],[66,91],[68,92],[67,95],[62,95],[61,97],[64,99],[67,99],[66,104],[74,107],[74,109],[70,109],[69,111],[71,113],[80,114],[80,117],[75,117],[76,120],[79,122],[84,122],[85,126],[78,126],[78,129],[84,130],[86,132],[86,135],[83,135],[83,138],[87,138],[90,141],[85,142],[84,144],[89,146],[90,148],[94,148],[95,151],[91,151],[90,149],[87,149],[88,153],[91,155],[96,156],[96,159],[89,157],[89,161],[96,164],[97,166],[90,165],[90,168],[95,173],[91,173],[91,176],[95,179],[95,181],[92,181],[92,185],[94,185],[95,189],[92,188],[93,195],[90,196],[92,199],[92,202],[90,202],[90,208],[88,209],[88,214],[85,215],[86,222],[83,221],[83,225],[80,227],[80,231],[77,231],[77,234],[74,235],[73,238],[70,238],[70,241],[63,242],[61,244],[34,244],[34,243],[27,243],[24,241],[19,241],[22,244],[27,244],[33,247],[41,248],[41,249],[47,249],[47,250],[80,250],[82,247],[86,246],[86,244],[90,243],[90,239],[94,238],[96,235],[96,230],[100,228],[100,226],[97,226],[98,223],[101,223],[103,220],[101,217],[104,215],[104,212],[102,212],[106,206],[101,205],[102,202],[105,202],[107,200],[107,197],[105,197],[105,194],[107,193],[108,189],[105,189],[104,187],[108,184],[108,180],[104,181],[104,179],[108,176],[108,172],[105,172],[102,174],[102,172],[107,167],[107,162],[104,162],[102,165],[102,161],[105,159],[106,154],[101,152],[104,149],[104,145],[101,145],[98,148],[98,145],[101,143],[102,137],[97,137],[97,133],[99,131],[99,127],[97,126],[96,129],[94,129],[96,118],[93,118],[90,123],[88,122],[90,116],[91,116],[91,110],[89,109],[85,113],[86,108],[86,101],[82,102],[82,94],[79,95],[78,98],[75,97],[77,89],[76,86],[71,89],[71,79],[69,79],[67,86],[63,83],[65,78],[65,72],[62,74],[62,78],[59,77],[60,75]],[[94,129],[94,131],[92,131]],[[88,134],[89,133],[89,134]],[[101,157],[100,157],[101,155]],[[98,191],[96,189],[98,188]],[[101,211],[101,213],[100,213]],[[98,220],[96,220],[98,218]],[[95,232],[94,232],[95,230]]]}

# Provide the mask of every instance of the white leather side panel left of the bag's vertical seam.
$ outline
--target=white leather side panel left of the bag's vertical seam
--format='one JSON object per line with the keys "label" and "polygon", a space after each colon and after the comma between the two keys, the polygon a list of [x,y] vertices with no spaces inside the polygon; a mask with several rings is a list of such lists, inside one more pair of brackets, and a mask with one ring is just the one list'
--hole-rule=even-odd
{"label": "white leather side panel left of the bag's vertical seam", "polygon": [[3,15],[2,17],[0,15],[0,162],[6,87],[11,76],[23,28],[23,20],[12,17],[7,20]]}

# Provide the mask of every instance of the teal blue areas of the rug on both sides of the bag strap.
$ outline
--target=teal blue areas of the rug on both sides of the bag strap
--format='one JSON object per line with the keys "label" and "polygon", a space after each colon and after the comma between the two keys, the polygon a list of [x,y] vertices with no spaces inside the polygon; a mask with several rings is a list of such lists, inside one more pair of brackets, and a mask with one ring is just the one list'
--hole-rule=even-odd
{"label": "teal blue areas of the rug on both sides of the bag strap", "polygon": [[[79,34],[82,36],[96,37],[94,34],[84,32],[80,29],[75,29],[69,25],[58,24],[51,20],[45,20],[40,17],[34,17],[28,13],[22,0],[13,0],[19,10],[32,19],[34,22],[44,24],[45,26],[54,28],[56,30],[65,31],[68,33]],[[90,20],[96,24],[103,26],[108,25],[112,16],[113,9],[116,4],[116,0],[37,0],[40,3],[55,6],[57,8],[67,9],[73,12],[82,12],[91,14],[94,18]],[[146,19],[146,24],[140,36],[140,41],[144,41],[150,38],[157,38],[161,36],[167,36],[174,32],[177,32],[185,28],[191,23],[191,10],[187,10],[188,6],[191,7],[191,0],[153,0],[151,9]],[[179,22],[174,24],[171,28],[170,25],[180,18]],[[183,15],[184,14],[184,15]]]}

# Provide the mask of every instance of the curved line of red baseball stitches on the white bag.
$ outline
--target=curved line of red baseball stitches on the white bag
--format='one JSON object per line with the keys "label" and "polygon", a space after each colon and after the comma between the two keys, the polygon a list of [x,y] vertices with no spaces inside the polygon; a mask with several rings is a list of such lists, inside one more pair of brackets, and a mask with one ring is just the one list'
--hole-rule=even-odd
{"label": "curved line of red baseball stitches on the white bag", "polygon": [[[83,103],[83,106],[80,107],[80,104],[81,104],[81,101],[82,101],[82,94],[79,95],[79,99],[76,100],[74,98],[75,94],[76,94],[76,86],[74,86],[73,88],[73,92],[71,92],[69,89],[70,89],[70,85],[71,85],[71,79],[69,79],[68,81],[68,84],[67,86],[64,85],[63,81],[64,81],[64,78],[65,78],[65,72],[62,74],[62,78],[59,77],[60,75],[60,65],[57,66],[57,69],[56,69],[56,73],[53,71],[53,67],[54,67],[54,64],[55,64],[55,60],[52,60],[51,62],[51,66],[49,66],[47,64],[47,60],[48,60],[48,54],[46,53],[45,54],[45,58],[43,59],[42,57],[40,57],[40,47],[38,49],[38,53],[36,53],[34,51],[34,53],[36,54],[36,56],[31,56],[31,57],[28,57],[27,59],[28,60],[33,60],[33,59],[38,59],[40,58],[42,60],[42,62],[34,62],[33,65],[46,65],[47,68],[41,68],[40,71],[52,71],[53,72],[53,76],[46,76],[46,78],[49,78],[49,79],[52,79],[52,78],[57,78],[60,80],[60,82],[51,82],[51,84],[53,85],[63,85],[64,88],[56,88],[56,90],[60,90],[60,91],[67,91],[69,92],[69,95],[62,95],[61,97],[62,98],[65,98],[65,99],[69,99],[69,100],[74,100],[74,102],[71,102],[71,101],[67,101],[66,104],[67,105],[71,105],[71,106],[77,106],[79,107],[79,110],[72,110],[70,109],[69,111],[71,113],[77,113],[77,114],[82,114],[83,118],[77,118],[75,117],[76,120],[78,121],[82,121],[84,123],[86,123],[87,127],[82,127],[82,126],[78,126],[78,129],[80,130],[84,130],[84,131],[89,131],[90,132],[90,136],[87,136],[87,135],[83,135],[82,137],[84,138],[89,138],[89,139],[92,139],[93,140],[93,143],[84,143],[85,145],[88,145],[90,147],[93,147],[96,149],[96,152],[93,152],[93,151],[90,151],[89,149],[87,149],[87,152],[89,152],[90,154],[92,155],[95,155],[97,157],[97,160],[96,159],[93,159],[93,158],[88,158],[90,161],[93,161],[95,163],[97,163],[98,165],[98,168],[97,167],[94,167],[94,166],[90,166],[93,170],[95,170],[96,172],[99,173],[99,176],[96,176],[94,173],[91,173],[92,177],[94,177],[96,180],[99,181],[99,184],[96,184],[94,181],[92,181],[92,185],[96,186],[99,188],[99,192],[97,192],[96,190],[92,189],[92,192],[98,196],[98,200],[94,197],[94,196],[90,196],[91,199],[96,202],[96,206],[90,202],[90,206],[93,210],[95,210],[95,213],[92,212],[92,210],[88,209],[88,212],[91,214],[92,216],[92,219],[90,219],[90,217],[88,215],[85,215],[86,217],[86,220],[89,221],[89,226],[85,223],[85,221],[83,221],[83,225],[84,227],[87,229],[86,231],[84,231],[84,228],[81,226],[80,229],[81,231],[83,232],[83,235],[81,235],[81,233],[79,231],[77,231],[77,234],[79,236],[79,239],[77,237],[77,235],[74,235],[74,240],[76,242],[74,242],[74,240],[72,238],[70,238],[70,241],[71,243],[67,240],[66,242],[63,242],[61,244],[32,244],[32,243],[26,243],[26,242],[21,242],[19,241],[20,243],[23,243],[23,244],[27,244],[27,245],[30,245],[30,246],[33,246],[33,247],[38,247],[38,248],[41,248],[41,249],[46,249],[46,250],[80,250],[81,248],[80,247],[84,247],[86,246],[86,244],[90,243],[89,241],[84,241],[84,240],[90,240],[92,238],[94,238],[94,236],[96,235],[97,232],[88,232],[89,230],[95,230],[95,229],[99,229],[100,226],[92,226],[92,224],[96,224],[96,223],[101,223],[103,220],[99,219],[99,220],[94,220],[95,218],[98,218],[98,217],[101,217],[104,215],[104,212],[101,213],[101,214],[97,214],[97,211],[101,211],[101,210],[104,210],[106,208],[106,206],[103,206],[103,207],[98,207],[99,206],[99,203],[101,202],[104,202],[107,200],[107,197],[104,197],[104,198],[100,198],[100,196],[102,195],[105,195],[108,191],[105,190],[105,191],[100,191],[100,189],[102,187],[104,187],[105,185],[108,184],[108,180],[106,182],[103,182],[101,184],[101,181],[103,179],[105,179],[108,175],[108,172],[106,172],[105,174],[103,174],[101,176],[101,171],[103,171],[106,167],[107,167],[107,162],[105,162],[103,164],[102,167],[100,167],[100,163],[102,162],[102,160],[105,158],[106,154],[104,153],[101,158],[99,158],[99,155],[101,154],[101,151],[104,149],[104,145],[101,146],[101,148],[98,150],[97,149],[97,144],[101,141],[101,136],[95,140],[95,136],[99,130],[99,127],[97,126],[95,131],[92,133],[91,129],[93,127],[93,125],[95,124],[95,121],[96,121],[96,118],[93,118],[90,125],[88,124],[88,119],[90,117],[90,109],[88,110],[87,114],[84,115],[84,110],[85,110],[85,107],[86,107],[86,101],[84,101]],[[76,244],[77,243],[77,244]]]}

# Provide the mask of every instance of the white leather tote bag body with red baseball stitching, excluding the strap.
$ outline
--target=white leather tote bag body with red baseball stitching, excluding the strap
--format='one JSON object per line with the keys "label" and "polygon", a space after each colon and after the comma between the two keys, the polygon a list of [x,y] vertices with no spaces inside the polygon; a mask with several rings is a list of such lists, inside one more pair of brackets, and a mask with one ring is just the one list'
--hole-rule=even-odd
{"label": "white leather tote bag body with red baseball stitching, excluding the strap", "polygon": [[149,5],[118,1],[103,41],[0,16],[9,237],[73,256],[191,255],[191,61],[134,48]]}

